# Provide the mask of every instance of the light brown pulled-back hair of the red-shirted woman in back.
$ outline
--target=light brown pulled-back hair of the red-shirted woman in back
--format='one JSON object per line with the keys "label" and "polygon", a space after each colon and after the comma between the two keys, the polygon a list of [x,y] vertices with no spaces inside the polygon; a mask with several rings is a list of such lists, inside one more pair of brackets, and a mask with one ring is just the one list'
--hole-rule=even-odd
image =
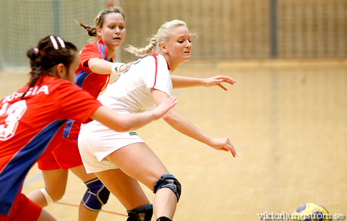
{"label": "light brown pulled-back hair of the red-shirted woman in back", "polygon": [[100,36],[98,36],[98,34],[96,33],[96,27],[102,28],[104,26],[106,15],[110,14],[110,13],[119,13],[123,16],[123,19],[125,20],[125,15],[123,13],[123,9],[119,6],[117,6],[117,7],[106,8],[106,9],[102,10],[94,20],[95,27],[90,27],[89,25],[84,25],[77,20],[75,20],[75,22],[79,26],[83,27],[88,32],[89,36],[96,37],[98,40],[98,39],[100,39]]}

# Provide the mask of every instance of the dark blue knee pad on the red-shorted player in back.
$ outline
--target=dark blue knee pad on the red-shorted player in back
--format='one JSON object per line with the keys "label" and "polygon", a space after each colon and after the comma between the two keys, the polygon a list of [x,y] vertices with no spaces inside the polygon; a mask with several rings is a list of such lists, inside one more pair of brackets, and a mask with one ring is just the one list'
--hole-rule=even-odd
{"label": "dark blue knee pad on the red-shorted player in back", "polygon": [[91,211],[100,211],[101,207],[107,203],[110,191],[100,181],[99,178],[85,182],[88,187],[82,198],[82,205]]}

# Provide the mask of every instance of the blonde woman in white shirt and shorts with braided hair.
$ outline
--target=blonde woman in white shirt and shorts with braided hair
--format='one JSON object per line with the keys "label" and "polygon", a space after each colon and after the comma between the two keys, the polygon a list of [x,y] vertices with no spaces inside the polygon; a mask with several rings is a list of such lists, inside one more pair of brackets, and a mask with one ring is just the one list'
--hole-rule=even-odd
{"label": "blonde woman in white shirt and shorts with braided hair", "polygon": [[[147,47],[126,49],[137,56],[148,56],[131,64],[99,100],[118,113],[139,113],[171,96],[170,74],[190,59],[191,34],[184,22],[173,20],[161,26]],[[192,80],[177,86],[196,85]],[[229,138],[208,136],[174,108],[163,119],[180,133],[238,156]],[[87,173],[95,173],[118,198],[128,210],[127,221],[150,221],[152,217],[145,208],[149,200],[137,180],[156,193],[153,207],[157,221],[173,219],[180,183],[136,132],[116,133],[92,121],[81,127],[78,146]]]}

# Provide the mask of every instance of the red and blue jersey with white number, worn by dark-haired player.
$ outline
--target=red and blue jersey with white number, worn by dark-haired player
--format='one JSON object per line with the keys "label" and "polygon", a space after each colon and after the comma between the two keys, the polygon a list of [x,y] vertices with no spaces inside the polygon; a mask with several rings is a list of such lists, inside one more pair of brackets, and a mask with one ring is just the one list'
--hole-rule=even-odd
{"label": "red and blue jersey with white number, worn by dark-haired player", "polygon": [[[0,214],[7,215],[29,169],[67,119],[87,122],[101,103],[68,81],[44,76],[0,101]],[[53,148],[53,147],[52,147]]]}

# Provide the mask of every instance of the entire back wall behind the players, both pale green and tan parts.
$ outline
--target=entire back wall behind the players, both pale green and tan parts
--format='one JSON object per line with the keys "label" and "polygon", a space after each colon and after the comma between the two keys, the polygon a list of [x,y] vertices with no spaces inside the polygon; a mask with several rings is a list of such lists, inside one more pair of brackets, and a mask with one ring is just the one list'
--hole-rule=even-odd
{"label": "entire back wall behind the players, both pale green and tan parts", "polygon": [[[126,16],[121,47],[145,46],[166,21],[198,35],[192,59],[346,58],[347,0],[114,0]],[[0,0],[0,66],[27,65],[26,51],[49,34],[82,48],[107,0]],[[121,49],[124,62],[137,59]]]}

